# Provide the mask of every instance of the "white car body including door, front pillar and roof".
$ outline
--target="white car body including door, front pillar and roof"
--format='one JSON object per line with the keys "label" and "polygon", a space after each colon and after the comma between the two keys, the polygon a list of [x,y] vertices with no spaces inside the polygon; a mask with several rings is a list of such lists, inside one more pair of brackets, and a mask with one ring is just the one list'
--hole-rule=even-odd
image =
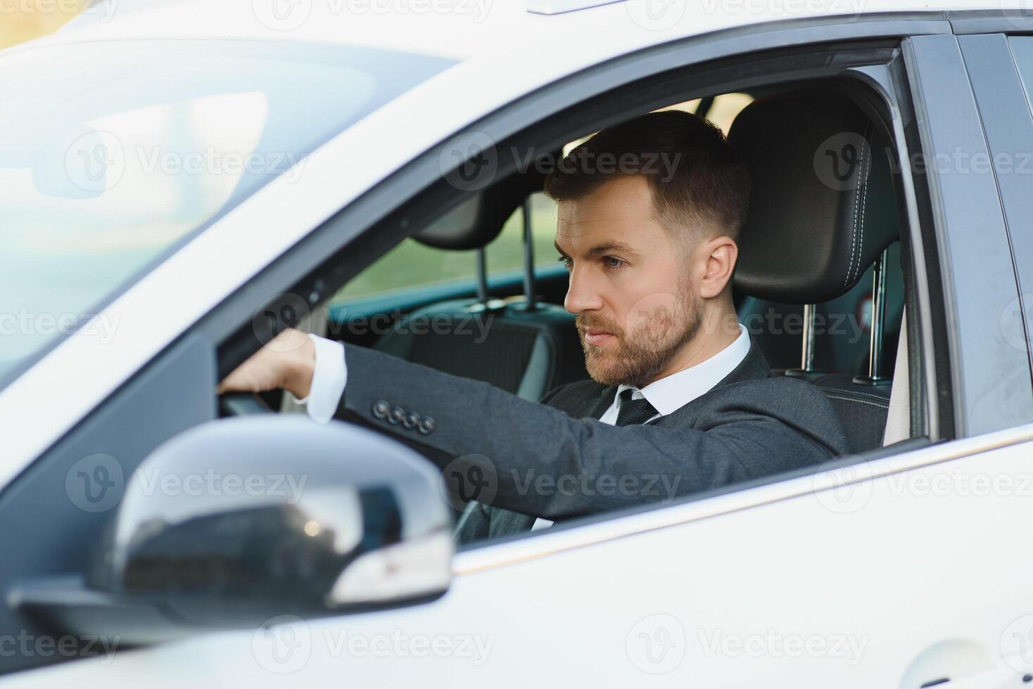
{"label": "white car body including door, front pillar and roof", "polygon": [[[96,317],[117,315],[111,341],[73,334],[0,391],[0,489],[334,212],[521,96],[645,47],[737,26],[851,12],[864,22],[870,12],[931,9],[910,0],[827,3],[825,10],[788,0],[701,2],[682,5],[677,21],[644,26],[649,1],[560,14],[472,0],[453,4],[469,12],[349,14],[311,0],[294,5],[308,8],[308,21],[277,30],[259,21],[260,0],[152,3],[139,10],[129,0],[125,6],[108,0],[66,30],[9,52],[45,60],[49,46],[85,41],[109,41],[117,51],[121,40],[145,37],[262,37],[460,62],[336,136],[304,161],[306,174],[263,187],[119,296]],[[936,9],[1000,6],[936,3]],[[57,389],[65,393],[54,395]],[[1024,672],[1033,672],[1033,587],[1027,549],[1015,535],[1033,523],[1033,491],[1016,484],[985,494],[971,478],[993,484],[1026,475],[1031,442],[1033,426],[1021,426],[883,460],[879,475],[856,477],[856,468],[846,467],[489,546],[458,554],[450,590],[431,603],[198,636],[14,674],[0,684],[827,687],[835,681],[870,688],[950,677],[950,687],[1018,686]]]}

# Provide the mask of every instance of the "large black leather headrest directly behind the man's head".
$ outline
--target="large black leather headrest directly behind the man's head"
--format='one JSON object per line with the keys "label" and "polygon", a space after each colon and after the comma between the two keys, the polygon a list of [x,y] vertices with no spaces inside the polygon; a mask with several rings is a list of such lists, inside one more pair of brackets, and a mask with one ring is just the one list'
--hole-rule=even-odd
{"label": "large black leather headrest directly behind the man's head", "polygon": [[728,141],[752,182],[735,268],[742,292],[795,304],[835,299],[899,237],[889,149],[843,95],[755,100]]}

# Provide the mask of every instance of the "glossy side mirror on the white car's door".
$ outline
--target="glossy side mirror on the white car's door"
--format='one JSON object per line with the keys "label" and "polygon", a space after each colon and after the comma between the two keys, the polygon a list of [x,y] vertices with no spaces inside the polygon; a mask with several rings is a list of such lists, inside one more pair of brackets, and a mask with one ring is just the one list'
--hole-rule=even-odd
{"label": "glossy side mirror on the white car's door", "polygon": [[85,577],[12,602],[142,644],[434,598],[453,552],[441,483],[409,448],[342,422],[210,422],[136,468]]}

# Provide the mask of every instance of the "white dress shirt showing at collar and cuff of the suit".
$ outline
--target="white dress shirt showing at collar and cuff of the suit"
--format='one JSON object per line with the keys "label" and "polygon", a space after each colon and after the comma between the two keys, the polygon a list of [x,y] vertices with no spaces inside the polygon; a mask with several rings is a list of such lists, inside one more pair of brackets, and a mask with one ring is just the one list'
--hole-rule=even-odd
{"label": "white dress shirt showing at collar and cuff of the suit", "polygon": [[[326,423],[334,418],[344,386],[348,381],[348,367],[344,361],[344,346],[317,335],[309,335],[316,347],[316,363],[312,372],[312,389],[309,396],[298,400],[306,404],[309,417],[320,423]],[[724,376],[733,371],[743,362],[750,351],[750,336],[746,328],[740,324],[739,337],[710,359],[702,361],[677,373],[671,373],[659,381],[653,381],[639,389],[629,385],[617,388],[614,402],[609,405],[599,421],[613,426],[617,423],[617,408],[620,406],[621,393],[634,390],[632,399],[645,397],[657,414],[646,423],[667,416],[691,402],[696,397],[707,393]],[[289,393],[288,393],[289,394]],[[552,526],[553,522],[538,518],[531,528],[532,531]]]}

